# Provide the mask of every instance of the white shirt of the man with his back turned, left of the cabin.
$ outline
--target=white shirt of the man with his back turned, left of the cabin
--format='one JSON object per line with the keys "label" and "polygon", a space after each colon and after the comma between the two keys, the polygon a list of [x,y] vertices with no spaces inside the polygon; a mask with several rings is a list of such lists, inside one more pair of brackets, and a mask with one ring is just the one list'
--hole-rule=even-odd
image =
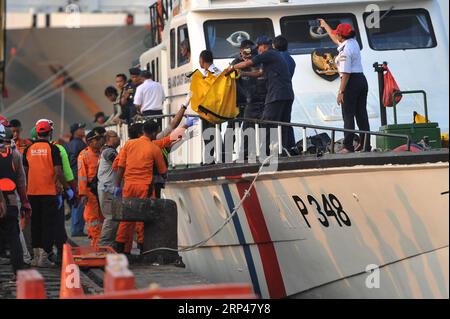
{"label": "white shirt of the man with his back turned, left of the cabin", "polygon": [[141,112],[160,111],[163,108],[164,98],[162,85],[147,79],[137,87],[134,95],[134,104],[141,106]]}

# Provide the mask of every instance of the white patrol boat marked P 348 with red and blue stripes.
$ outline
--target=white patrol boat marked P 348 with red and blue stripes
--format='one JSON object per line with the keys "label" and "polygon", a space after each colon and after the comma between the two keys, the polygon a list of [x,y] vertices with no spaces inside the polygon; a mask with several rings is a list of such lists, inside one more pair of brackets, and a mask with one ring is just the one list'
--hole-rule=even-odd
{"label": "white patrol boat marked P 348 with red and blue stripes", "polygon": [[[158,1],[150,8],[153,48],[140,62],[164,85],[170,113],[189,91],[186,75],[199,68],[201,50],[224,69],[242,40],[282,34],[297,64],[298,140],[343,126],[339,81],[327,72],[330,57],[317,53],[334,46],[308,22],[347,22],[362,47],[372,131],[383,116],[372,65],[388,61],[401,89],[426,91],[430,119],[448,132],[448,7],[445,0]],[[186,41],[190,55],[180,50]],[[405,95],[399,122],[411,123],[421,101]],[[448,298],[448,149],[294,156],[261,173],[261,163],[201,166],[201,134],[191,135],[171,153],[163,197],[177,203],[179,246],[188,248],[181,255],[193,272],[252,283],[263,298]]]}

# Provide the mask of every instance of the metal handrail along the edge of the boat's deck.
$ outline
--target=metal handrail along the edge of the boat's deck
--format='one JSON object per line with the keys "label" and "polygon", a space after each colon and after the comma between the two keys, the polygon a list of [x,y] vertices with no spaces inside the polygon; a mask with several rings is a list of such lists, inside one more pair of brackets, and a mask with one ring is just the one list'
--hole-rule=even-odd
{"label": "metal handrail along the edge of the boat's deck", "polygon": [[[174,117],[176,114],[170,113],[170,114],[162,114],[162,115],[151,115],[151,116],[143,116],[142,119],[136,121],[136,123],[143,122],[149,119],[163,119],[168,117]],[[189,116],[192,117],[200,117],[197,114],[189,114]],[[330,153],[334,154],[334,145],[335,145],[335,136],[336,132],[342,132],[342,133],[353,133],[353,134],[365,134],[365,139],[363,142],[363,147],[366,149],[367,143],[369,142],[369,136],[375,135],[375,136],[385,136],[385,137],[395,137],[395,138],[401,138],[405,139],[406,141],[406,150],[410,151],[411,149],[411,139],[409,135],[406,134],[393,134],[393,133],[384,133],[384,132],[372,132],[372,131],[362,131],[362,130],[350,130],[340,127],[333,127],[333,126],[322,126],[322,125],[314,125],[314,124],[306,124],[306,123],[286,123],[286,122],[280,122],[280,121],[268,121],[268,120],[260,120],[260,119],[252,119],[252,118],[236,118],[230,120],[230,122],[251,122],[255,124],[255,128],[259,128],[260,125],[271,125],[271,126],[277,126],[278,132],[280,132],[281,127],[296,127],[302,129],[303,134],[303,153],[307,152],[307,129],[314,129],[314,130],[321,130],[321,131],[330,131],[331,132],[331,147],[330,147]],[[220,134],[220,131],[217,130],[218,126],[220,124],[216,124],[216,132],[215,132],[215,139],[218,140],[217,134]],[[279,134],[281,135],[281,134]],[[256,138],[255,142],[257,145],[259,145],[259,130],[256,130]],[[279,136],[278,140],[278,153],[282,153],[282,141],[281,137]],[[220,147],[219,147],[220,148]],[[257,148],[258,149],[258,148]],[[221,152],[220,152],[221,153]],[[258,155],[258,154],[257,154]],[[219,152],[216,150],[215,158],[220,158]]]}

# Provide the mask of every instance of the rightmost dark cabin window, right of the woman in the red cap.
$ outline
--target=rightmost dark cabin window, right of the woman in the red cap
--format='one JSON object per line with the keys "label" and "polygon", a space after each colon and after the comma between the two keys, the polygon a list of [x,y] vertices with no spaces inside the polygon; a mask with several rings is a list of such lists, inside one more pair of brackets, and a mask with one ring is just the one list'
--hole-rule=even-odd
{"label": "rightmost dark cabin window, right of the woman in the red cap", "polygon": [[422,49],[437,45],[430,14],[424,9],[382,11],[379,25],[372,28],[368,26],[370,14],[364,14],[364,21],[373,50]]}

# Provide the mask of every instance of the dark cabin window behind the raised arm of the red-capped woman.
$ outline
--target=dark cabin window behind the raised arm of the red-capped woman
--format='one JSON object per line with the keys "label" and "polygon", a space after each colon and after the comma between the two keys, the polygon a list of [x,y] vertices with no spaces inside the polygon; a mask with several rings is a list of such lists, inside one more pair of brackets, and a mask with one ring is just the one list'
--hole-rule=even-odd
{"label": "dark cabin window behind the raised arm of the red-capped woman", "polygon": [[311,26],[311,21],[325,19],[335,29],[340,23],[350,23],[357,34],[359,46],[362,48],[356,17],[350,13],[317,14],[282,17],[280,20],[281,34],[289,42],[290,54],[311,54],[314,50],[336,48],[324,29]]}

